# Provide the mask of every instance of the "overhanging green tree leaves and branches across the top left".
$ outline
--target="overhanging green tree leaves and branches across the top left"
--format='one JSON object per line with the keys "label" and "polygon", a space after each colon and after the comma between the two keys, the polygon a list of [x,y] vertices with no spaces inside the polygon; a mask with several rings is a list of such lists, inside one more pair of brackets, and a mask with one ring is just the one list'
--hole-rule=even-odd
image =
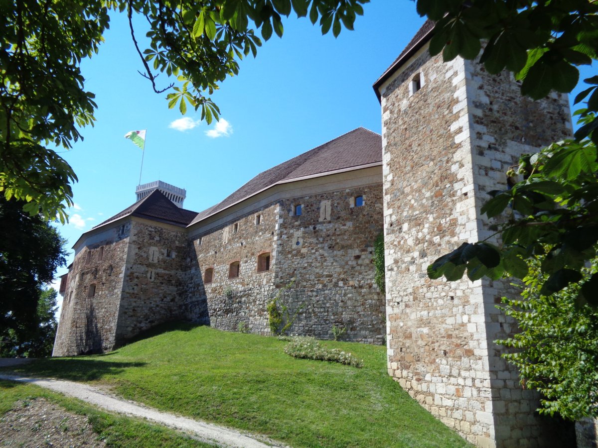
{"label": "overhanging green tree leaves and branches across the top left", "polygon": [[[25,201],[32,216],[64,222],[77,180],[56,149],[83,139],[93,125],[94,94],[84,90],[80,63],[97,53],[111,12],[127,14],[133,45],[155,92],[169,108],[191,106],[218,119],[210,94],[264,40],[282,36],[282,17],[295,11],[322,33],[353,29],[369,0],[15,0],[0,2],[0,192]],[[133,17],[149,24],[140,48]],[[158,85],[158,74],[167,81]],[[162,81],[163,78],[160,78]]]}

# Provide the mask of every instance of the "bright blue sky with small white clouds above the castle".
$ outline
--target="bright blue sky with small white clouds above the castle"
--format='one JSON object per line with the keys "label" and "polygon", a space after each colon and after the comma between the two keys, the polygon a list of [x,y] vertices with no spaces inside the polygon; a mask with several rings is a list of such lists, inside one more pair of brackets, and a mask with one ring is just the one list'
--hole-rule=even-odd
{"label": "bright blue sky with small white clouds above the castle", "polygon": [[[124,139],[128,131],[147,129],[141,182],[159,179],[187,189],[184,207],[194,211],[356,127],[380,133],[371,86],[424,19],[410,0],[376,1],[364,11],[355,30],[343,29],[336,39],[292,13],[282,39],[264,42],[257,58],[242,60],[239,75],[213,94],[222,119],[210,126],[192,109],[184,117],[178,108],[169,110],[166,93],[152,91],[137,72],[143,66],[126,15],[113,14],[99,54],[81,65],[85,89],[96,94],[96,124],[61,154],[79,179],[69,224],[58,225],[69,249],[81,233],[135,202],[142,153]],[[143,47],[147,23],[137,20],[136,26]],[[166,87],[166,75],[157,84]]]}

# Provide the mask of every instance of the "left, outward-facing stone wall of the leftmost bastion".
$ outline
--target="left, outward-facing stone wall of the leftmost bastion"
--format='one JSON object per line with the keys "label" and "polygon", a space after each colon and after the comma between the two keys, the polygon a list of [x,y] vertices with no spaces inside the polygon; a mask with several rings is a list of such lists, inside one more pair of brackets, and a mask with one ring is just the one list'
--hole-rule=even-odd
{"label": "left, outward-facing stone wall of the leftmost bastion", "polygon": [[[68,272],[53,356],[99,353],[114,348],[129,228],[124,234],[118,234],[117,228],[107,229],[76,254]],[[103,251],[101,260],[100,251]],[[91,253],[89,262],[88,253]],[[95,294],[90,297],[92,284]]]}

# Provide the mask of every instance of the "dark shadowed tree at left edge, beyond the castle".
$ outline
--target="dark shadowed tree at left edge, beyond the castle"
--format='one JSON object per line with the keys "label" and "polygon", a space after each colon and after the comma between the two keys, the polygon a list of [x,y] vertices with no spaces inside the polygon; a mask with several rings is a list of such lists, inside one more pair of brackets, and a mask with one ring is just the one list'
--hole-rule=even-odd
{"label": "dark shadowed tree at left edge, beyond the castle", "polygon": [[48,322],[45,316],[51,311],[46,308],[54,305],[39,304],[42,286],[65,265],[65,241],[41,216],[29,216],[22,207],[0,196],[0,329],[2,336],[11,330],[19,344]]}

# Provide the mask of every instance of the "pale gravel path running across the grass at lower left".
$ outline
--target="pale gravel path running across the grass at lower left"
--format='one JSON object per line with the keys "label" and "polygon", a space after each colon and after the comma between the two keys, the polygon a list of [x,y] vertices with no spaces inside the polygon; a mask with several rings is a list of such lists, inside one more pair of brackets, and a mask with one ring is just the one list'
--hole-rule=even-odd
{"label": "pale gravel path running across the grass at lower left", "polygon": [[[0,362],[0,366],[2,366]],[[4,364],[6,365],[6,364]],[[69,397],[79,398],[94,406],[100,407],[111,412],[120,414],[141,417],[161,425],[170,426],[170,428],[179,429],[181,431],[189,432],[194,437],[199,438],[206,443],[216,443],[224,447],[242,447],[242,448],[264,448],[268,446],[283,446],[276,444],[273,440],[268,440],[266,437],[260,437],[257,440],[255,435],[243,434],[234,429],[225,428],[206,422],[196,421],[185,417],[161,412],[151,407],[145,407],[133,401],[123,400],[105,391],[94,388],[93,386],[77,383],[72,381],[62,381],[54,379],[41,378],[25,378],[16,375],[0,374],[0,379],[8,379],[11,381],[20,381],[32,383],[44,388],[51,389],[61,394],[69,395]]]}

